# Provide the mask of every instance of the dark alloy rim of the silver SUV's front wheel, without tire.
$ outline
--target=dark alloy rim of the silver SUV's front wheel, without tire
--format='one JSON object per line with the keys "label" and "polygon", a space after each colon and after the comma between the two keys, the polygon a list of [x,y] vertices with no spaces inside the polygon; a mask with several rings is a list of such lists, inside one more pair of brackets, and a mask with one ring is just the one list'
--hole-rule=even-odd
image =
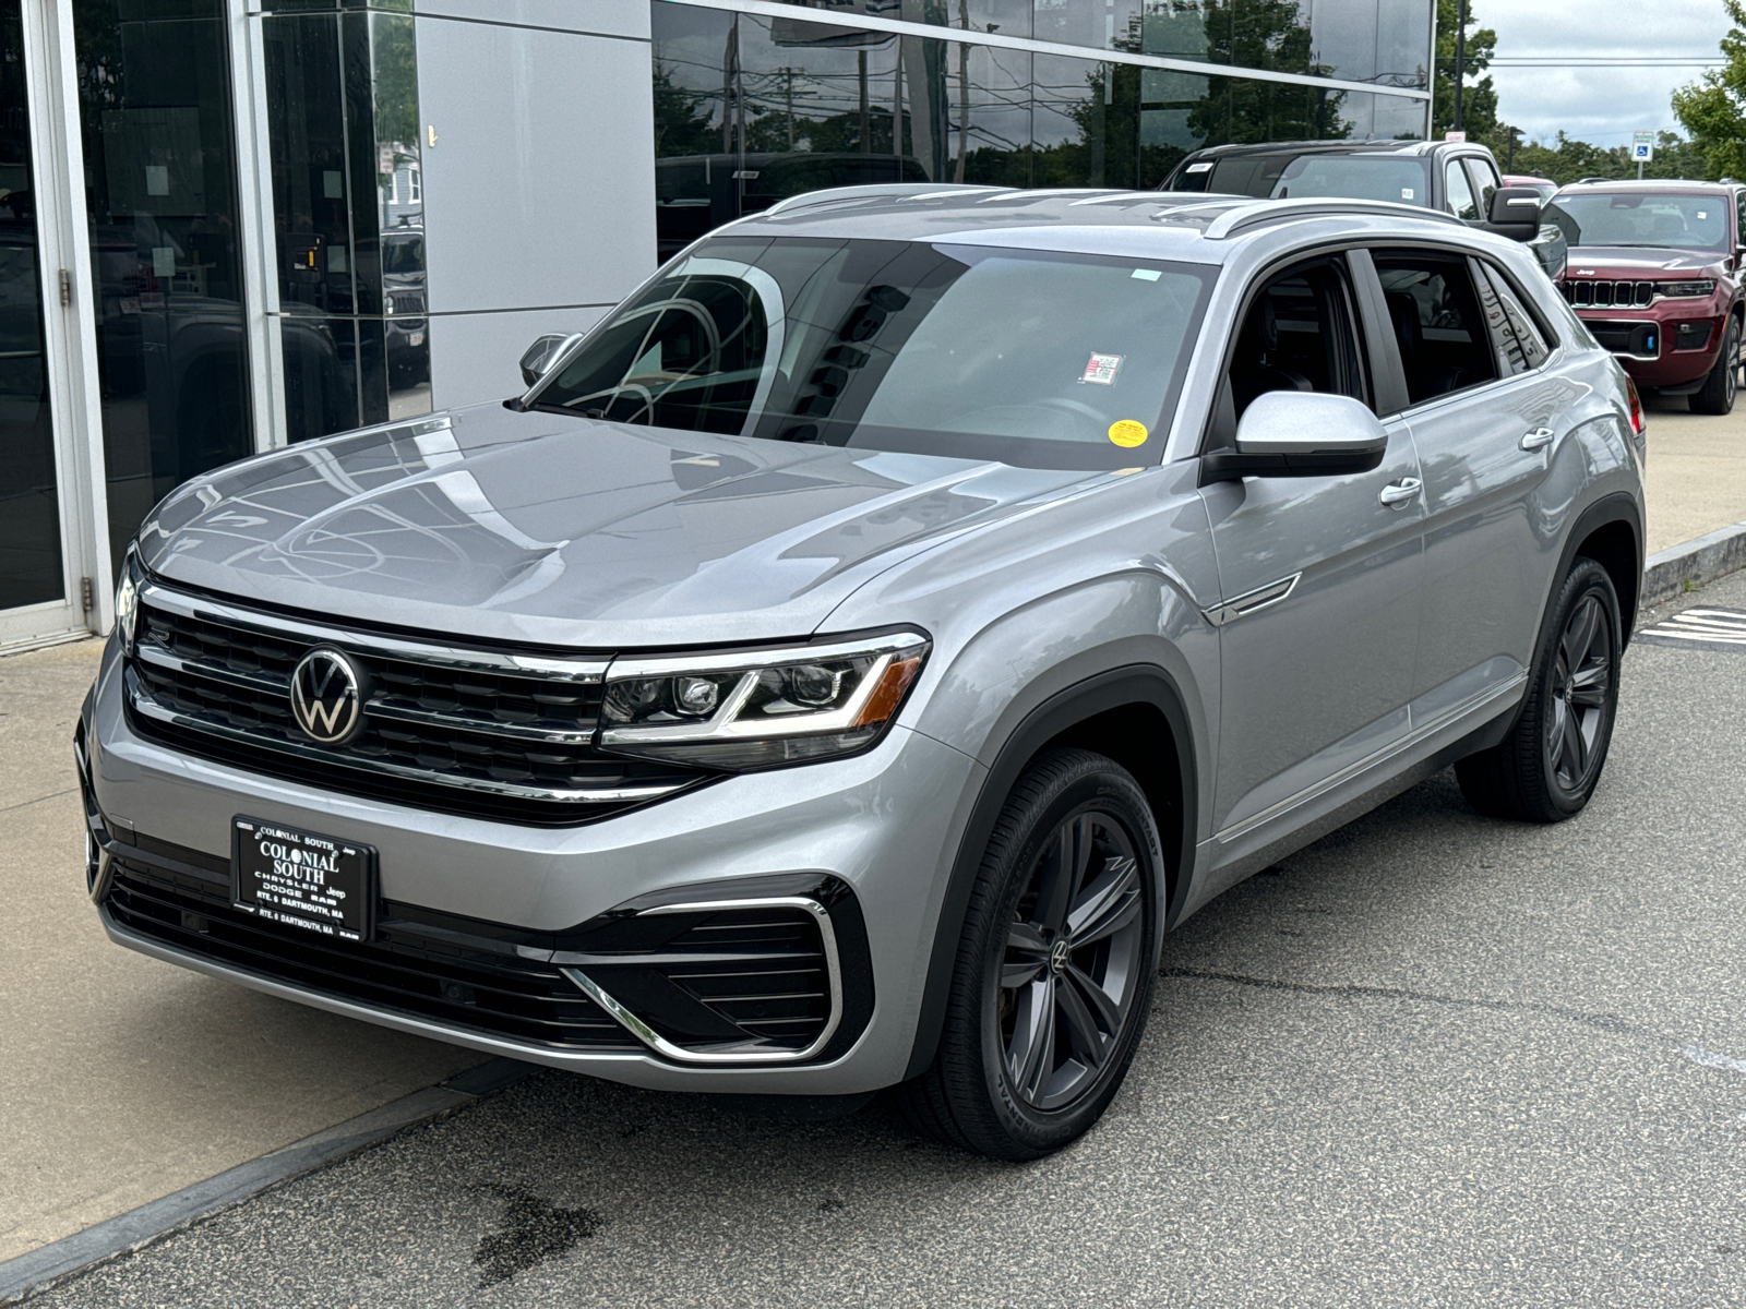
{"label": "dark alloy rim of the silver SUV's front wheel, without tire", "polygon": [[1096,1082],[1144,967],[1140,862],[1121,822],[1093,805],[1044,843],[1006,930],[990,997],[1007,1086],[1037,1110]]}

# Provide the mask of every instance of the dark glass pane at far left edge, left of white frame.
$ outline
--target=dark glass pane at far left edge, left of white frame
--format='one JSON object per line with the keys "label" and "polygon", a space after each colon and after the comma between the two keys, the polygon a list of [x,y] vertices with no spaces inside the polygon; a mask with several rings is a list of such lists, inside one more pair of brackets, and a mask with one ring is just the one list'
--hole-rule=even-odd
{"label": "dark glass pane at far left edge, left of white frame", "polygon": [[59,600],[61,513],[42,356],[19,0],[0,3],[0,609]]}

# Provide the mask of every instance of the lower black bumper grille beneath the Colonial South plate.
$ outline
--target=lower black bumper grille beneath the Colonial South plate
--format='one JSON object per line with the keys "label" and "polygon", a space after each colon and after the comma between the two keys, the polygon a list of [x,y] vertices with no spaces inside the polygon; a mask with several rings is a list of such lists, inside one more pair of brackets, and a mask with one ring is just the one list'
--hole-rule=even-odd
{"label": "lower black bumper grille beneath the Colonial South plate", "polygon": [[[417,913],[410,906],[384,902],[374,941],[328,941],[232,908],[222,860],[176,848],[176,869],[122,845],[108,850],[103,906],[119,927],[173,949],[485,1035],[560,1049],[641,1049],[557,967],[461,944],[454,932],[424,935],[423,923],[402,918]],[[201,864],[187,862],[190,857]]]}

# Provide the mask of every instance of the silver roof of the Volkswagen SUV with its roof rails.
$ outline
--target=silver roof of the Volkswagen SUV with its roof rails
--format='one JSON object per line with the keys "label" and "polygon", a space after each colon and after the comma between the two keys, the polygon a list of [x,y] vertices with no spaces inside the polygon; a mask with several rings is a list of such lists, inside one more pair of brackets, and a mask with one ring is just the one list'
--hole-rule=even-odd
{"label": "silver roof of the Volkswagen SUV with its roof rails", "polygon": [[[1353,199],[1252,199],[1159,190],[1020,190],[939,183],[838,187],[794,195],[732,223],[760,236],[988,239],[992,244],[1084,253],[1145,255],[1222,264],[1227,243],[1287,222],[1372,220],[1407,230],[1463,232],[1453,215],[1411,204]],[[1069,237],[1067,234],[1074,236]],[[1168,234],[1168,236],[1165,236]],[[1173,246],[1161,250],[1159,236]]]}

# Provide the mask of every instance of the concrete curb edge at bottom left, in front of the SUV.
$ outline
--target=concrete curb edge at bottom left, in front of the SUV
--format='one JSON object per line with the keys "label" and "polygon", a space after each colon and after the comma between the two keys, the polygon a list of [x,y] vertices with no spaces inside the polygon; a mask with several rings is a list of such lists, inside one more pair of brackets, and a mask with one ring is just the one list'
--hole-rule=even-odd
{"label": "concrete curb edge at bottom left, in front of the SUV", "polygon": [[0,1264],[0,1304],[16,1304],[45,1292],[65,1278],[141,1250],[304,1173],[337,1164],[407,1127],[454,1114],[536,1072],[540,1072],[536,1065],[519,1059],[491,1059],[456,1073],[440,1086],[414,1091],[260,1159],[237,1164],[218,1176],[51,1241],[28,1255],[9,1258]]}

